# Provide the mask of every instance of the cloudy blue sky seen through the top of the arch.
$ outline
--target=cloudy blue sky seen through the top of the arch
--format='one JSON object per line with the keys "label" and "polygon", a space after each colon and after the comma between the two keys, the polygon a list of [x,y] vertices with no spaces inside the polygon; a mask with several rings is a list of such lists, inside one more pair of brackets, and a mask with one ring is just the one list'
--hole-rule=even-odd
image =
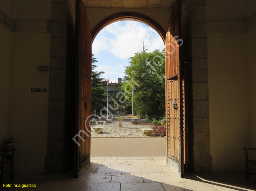
{"label": "cloudy blue sky seen through the top of the arch", "polygon": [[93,42],[96,71],[104,71],[102,78],[109,76],[110,83],[117,82],[117,78],[124,77],[129,58],[143,49],[143,40],[147,52],[164,48],[160,35],[143,23],[127,20],[106,26]]}

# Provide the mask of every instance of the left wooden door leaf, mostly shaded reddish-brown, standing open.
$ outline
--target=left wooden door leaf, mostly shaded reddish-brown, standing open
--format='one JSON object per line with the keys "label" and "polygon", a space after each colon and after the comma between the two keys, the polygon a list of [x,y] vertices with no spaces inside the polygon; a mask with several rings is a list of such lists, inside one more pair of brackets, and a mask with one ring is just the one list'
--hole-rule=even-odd
{"label": "left wooden door leaf, mostly shaded reddish-brown, standing open", "polygon": [[74,175],[90,166],[91,33],[85,6],[76,0],[76,133]]}

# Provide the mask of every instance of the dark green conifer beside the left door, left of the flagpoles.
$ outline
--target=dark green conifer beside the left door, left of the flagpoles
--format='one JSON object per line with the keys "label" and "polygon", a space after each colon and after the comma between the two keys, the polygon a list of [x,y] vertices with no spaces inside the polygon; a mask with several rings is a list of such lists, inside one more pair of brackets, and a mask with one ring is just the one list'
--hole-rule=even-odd
{"label": "dark green conifer beside the left door, left of the flagpoles", "polygon": [[92,61],[91,61],[91,109],[94,111],[94,109],[97,109],[99,111],[106,105],[105,101],[105,94],[106,91],[104,90],[103,86],[106,84],[106,80],[101,77],[101,75],[104,73],[103,71],[96,71],[97,65],[96,58],[94,55],[92,55]]}

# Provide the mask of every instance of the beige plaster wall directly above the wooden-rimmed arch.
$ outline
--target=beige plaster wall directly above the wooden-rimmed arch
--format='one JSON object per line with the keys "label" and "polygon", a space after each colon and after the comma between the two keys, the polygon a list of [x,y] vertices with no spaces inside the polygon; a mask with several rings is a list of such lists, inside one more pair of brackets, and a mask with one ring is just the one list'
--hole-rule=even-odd
{"label": "beige plaster wall directly above the wooden-rimmed arch", "polygon": [[151,17],[164,29],[167,30],[169,18],[172,9],[102,9],[102,8],[86,8],[88,15],[90,30],[104,18],[119,12],[137,12]]}

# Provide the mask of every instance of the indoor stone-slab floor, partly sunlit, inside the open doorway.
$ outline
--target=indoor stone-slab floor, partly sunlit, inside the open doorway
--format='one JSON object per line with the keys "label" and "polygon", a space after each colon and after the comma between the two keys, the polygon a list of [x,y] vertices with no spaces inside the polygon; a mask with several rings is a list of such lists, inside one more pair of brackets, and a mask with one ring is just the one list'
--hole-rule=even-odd
{"label": "indoor stone-slab floor, partly sunlit, inside the open doorway", "polygon": [[[91,166],[75,179],[67,174],[16,175],[13,183],[35,191],[248,191],[256,189],[256,176],[244,174],[192,174],[181,178],[165,165],[165,157],[94,157]],[[11,184],[13,184],[11,183]]]}

